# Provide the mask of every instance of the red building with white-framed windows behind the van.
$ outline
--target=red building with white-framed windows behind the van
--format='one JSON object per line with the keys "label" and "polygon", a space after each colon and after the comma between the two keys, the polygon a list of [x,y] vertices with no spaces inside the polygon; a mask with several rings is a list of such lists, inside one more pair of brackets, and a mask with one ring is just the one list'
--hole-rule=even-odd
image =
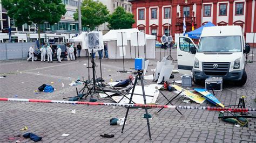
{"label": "red building with white-framed windows behind the van", "polygon": [[240,25],[245,34],[256,32],[255,0],[130,0],[136,23],[134,28],[146,34],[165,35],[183,33],[207,22],[214,25]]}

